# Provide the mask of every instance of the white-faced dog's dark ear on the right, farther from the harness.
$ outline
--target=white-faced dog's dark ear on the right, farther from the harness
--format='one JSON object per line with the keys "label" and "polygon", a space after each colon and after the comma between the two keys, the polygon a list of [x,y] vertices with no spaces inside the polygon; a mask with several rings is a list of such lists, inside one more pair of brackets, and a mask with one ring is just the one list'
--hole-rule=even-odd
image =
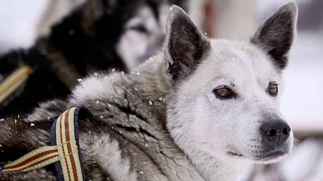
{"label": "white-faced dog's dark ear on the right, farther from the harness", "polygon": [[272,14],[250,38],[250,42],[265,50],[284,69],[288,53],[296,36],[297,6],[287,3]]}

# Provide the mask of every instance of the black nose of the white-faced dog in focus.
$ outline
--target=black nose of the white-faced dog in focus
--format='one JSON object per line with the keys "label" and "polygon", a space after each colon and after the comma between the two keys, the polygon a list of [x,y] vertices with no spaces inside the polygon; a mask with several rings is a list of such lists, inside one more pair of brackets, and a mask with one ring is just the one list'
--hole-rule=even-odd
{"label": "black nose of the white-faced dog in focus", "polygon": [[272,120],[261,125],[263,139],[272,143],[281,143],[287,140],[291,128],[284,120]]}

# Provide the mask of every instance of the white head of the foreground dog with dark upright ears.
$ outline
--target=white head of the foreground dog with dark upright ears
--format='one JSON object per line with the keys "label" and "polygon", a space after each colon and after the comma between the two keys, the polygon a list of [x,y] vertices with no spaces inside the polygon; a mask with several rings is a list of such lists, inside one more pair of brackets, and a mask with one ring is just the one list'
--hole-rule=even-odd
{"label": "white head of the foreground dog with dark upright ears", "polygon": [[279,105],[296,20],[296,5],[286,4],[241,43],[209,39],[182,9],[171,8],[167,127],[184,152],[257,163],[290,153],[293,132]]}

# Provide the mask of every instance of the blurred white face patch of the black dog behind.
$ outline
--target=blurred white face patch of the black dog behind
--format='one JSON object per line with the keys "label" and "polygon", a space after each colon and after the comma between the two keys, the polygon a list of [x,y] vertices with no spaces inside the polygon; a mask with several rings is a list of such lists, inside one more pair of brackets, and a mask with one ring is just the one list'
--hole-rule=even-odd
{"label": "blurred white face patch of the black dog behind", "polygon": [[[117,53],[125,60],[127,68],[135,68],[142,60],[160,50],[160,42],[166,34],[165,22],[169,8],[169,4],[161,4],[158,8],[159,19],[156,19],[152,10],[144,6],[127,22],[125,33],[117,44]],[[132,29],[140,24],[147,32]]]}

